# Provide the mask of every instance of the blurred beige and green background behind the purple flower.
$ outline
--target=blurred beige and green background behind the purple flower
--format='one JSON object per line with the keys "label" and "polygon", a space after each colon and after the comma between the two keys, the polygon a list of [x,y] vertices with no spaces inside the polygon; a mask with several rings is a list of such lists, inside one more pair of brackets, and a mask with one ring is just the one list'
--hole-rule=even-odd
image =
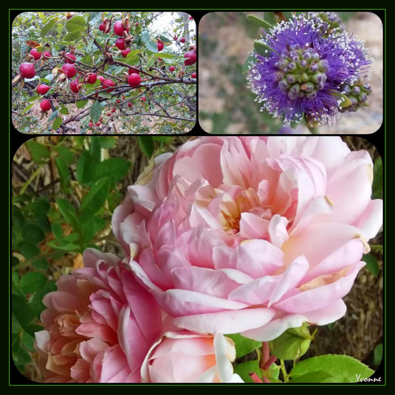
{"label": "blurred beige and green background behind the purple flower", "polygon": [[[260,28],[246,19],[249,12],[210,12],[199,22],[199,123],[209,133],[310,133],[306,126],[281,128],[278,118],[261,113],[246,86],[243,66]],[[263,18],[263,12],[254,12]],[[383,25],[372,12],[337,12],[346,30],[365,40],[374,57],[370,107],[342,115],[318,133],[373,133],[383,119]]]}

